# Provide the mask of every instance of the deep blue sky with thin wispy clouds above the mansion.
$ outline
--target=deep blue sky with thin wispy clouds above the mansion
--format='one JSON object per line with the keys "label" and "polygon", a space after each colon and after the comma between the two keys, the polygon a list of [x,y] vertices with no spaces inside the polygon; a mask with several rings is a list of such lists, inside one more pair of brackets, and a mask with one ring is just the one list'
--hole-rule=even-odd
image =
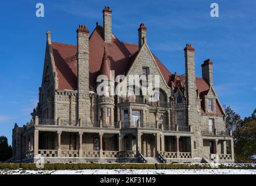
{"label": "deep blue sky with thin wispy clouds above the mansion", "polygon": [[[35,16],[44,3],[45,17]],[[219,4],[219,17],[210,5]],[[76,28],[93,31],[102,9],[111,6],[112,31],[121,41],[137,43],[137,28],[147,26],[152,52],[174,73],[184,74],[183,48],[195,48],[195,73],[214,62],[214,88],[222,105],[242,117],[256,108],[256,2],[254,0],[175,1],[5,1],[0,6],[0,135],[10,142],[15,123],[31,119],[37,105],[45,54],[45,33],[52,41],[76,44]]]}

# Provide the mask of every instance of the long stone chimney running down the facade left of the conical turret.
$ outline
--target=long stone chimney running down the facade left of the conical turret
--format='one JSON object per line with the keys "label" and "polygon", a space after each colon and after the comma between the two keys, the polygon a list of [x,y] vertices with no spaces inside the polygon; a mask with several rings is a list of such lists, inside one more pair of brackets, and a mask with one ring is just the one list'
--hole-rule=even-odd
{"label": "long stone chimney running down the facade left of the conical turret", "polygon": [[89,99],[89,30],[84,25],[77,28],[77,90],[78,117],[83,121],[90,119]]}

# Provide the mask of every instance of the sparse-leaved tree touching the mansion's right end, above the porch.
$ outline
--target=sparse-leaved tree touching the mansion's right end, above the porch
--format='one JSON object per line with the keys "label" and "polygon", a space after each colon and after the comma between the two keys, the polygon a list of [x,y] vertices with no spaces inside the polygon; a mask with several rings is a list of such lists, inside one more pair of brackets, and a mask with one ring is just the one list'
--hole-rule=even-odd
{"label": "sparse-leaved tree touching the mansion's right end, above the porch", "polygon": [[226,113],[226,128],[227,130],[236,131],[236,128],[243,123],[240,115],[234,112],[230,106],[223,105]]}

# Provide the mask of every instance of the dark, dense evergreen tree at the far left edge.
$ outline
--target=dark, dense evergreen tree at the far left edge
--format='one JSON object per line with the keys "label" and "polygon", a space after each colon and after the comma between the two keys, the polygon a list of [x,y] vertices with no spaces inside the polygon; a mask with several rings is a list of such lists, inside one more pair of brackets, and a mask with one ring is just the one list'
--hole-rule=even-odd
{"label": "dark, dense evergreen tree at the far left edge", "polygon": [[5,136],[0,137],[0,162],[12,158],[12,146],[8,145],[8,140]]}

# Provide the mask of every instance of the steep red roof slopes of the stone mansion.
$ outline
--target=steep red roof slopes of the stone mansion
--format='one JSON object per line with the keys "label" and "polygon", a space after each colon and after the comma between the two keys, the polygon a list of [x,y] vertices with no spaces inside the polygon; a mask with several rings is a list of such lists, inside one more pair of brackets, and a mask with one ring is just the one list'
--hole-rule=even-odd
{"label": "steep red roof slopes of the stone mansion", "polygon": [[[105,74],[105,70],[115,71],[115,77],[119,74],[126,74],[130,69],[138,54],[138,45],[120,42],[115,35],[112,35],[112,43],[104,42],[103,28],[96,26],[90,35],[89,41],[89,71],[90,71],[90,90],[94,87],[98,74]],[[52,42],[56,71],[58,72],[59,90],[77,90],[77,46]],[[108,64],[102,64],[104,58],[104,48],[106,49]],[[179,76],[176,73],[171,74],[168,69],[153,54],[155,62],[161,71],[166,83],[170,85],[173,81],[174,87],[184,87],[185,76]],[[107,67],[107,69],[105,68]],[[101,72],[99,70],[102,68]],[[103,71],[103,72],[102,72]],[[209,85],[204,78],[195,78],[200,96],[203,92],[209,90]],[[203,111],[203,110],[202,110]],[[219,104],[216,112],[221,114]]]}

